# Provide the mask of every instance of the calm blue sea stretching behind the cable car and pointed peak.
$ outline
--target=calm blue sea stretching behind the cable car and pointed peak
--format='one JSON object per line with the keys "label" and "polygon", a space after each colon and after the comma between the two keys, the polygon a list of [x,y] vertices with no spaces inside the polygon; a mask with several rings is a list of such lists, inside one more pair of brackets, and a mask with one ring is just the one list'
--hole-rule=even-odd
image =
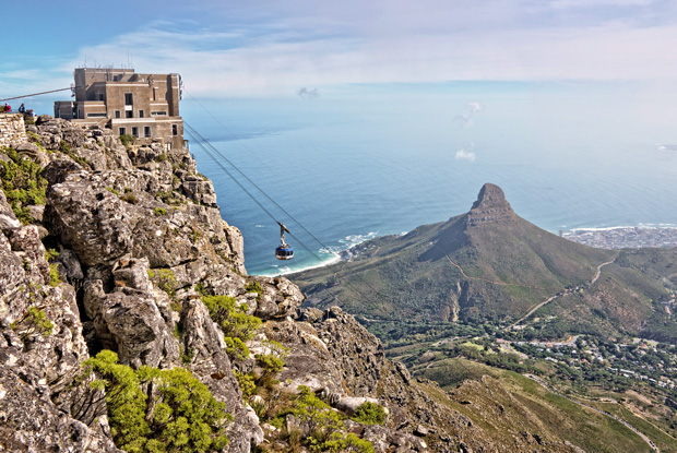
{"label": "calm blue sea stretching behind the cable car and pointed peak", "polygon": [[[187,132],[222,216],[245,236],[248,272],[276,275],[467,212],[485,182],[553,233],[674,226],[677,128],[652,102],[626,86],[467,83],[189,95],[181,112],[229,160],[216,156],[218,166]],[[274,258],[276,222],[292,231],[294,260]]]}

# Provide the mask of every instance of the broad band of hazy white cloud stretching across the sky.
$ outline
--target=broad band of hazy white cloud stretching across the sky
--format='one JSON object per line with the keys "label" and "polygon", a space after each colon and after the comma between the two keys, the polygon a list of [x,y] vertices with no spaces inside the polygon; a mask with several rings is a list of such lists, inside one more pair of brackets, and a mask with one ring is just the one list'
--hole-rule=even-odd
{"label": "broad band of hazy white cloud stretching across the sky", "polygon": [[[590,1],[610,8],[651,0]],[[119,65],[130,49],[139,71],[181,72],[187,91],[215,96],[288,95],[299,86],[322,91],[352,83],[677,78],[677,52],[665,49],[677,43],[669,17],[636,26],[630,16],[609,15],[580,25],[554,13],[582,2],[555,0],[536,9],[527,0],[346,0],[320,8],[297,0],[286,9],[276,4],[282,19],[252,25],[152,24],[81,49],[68,70],[85,56]],[[539,25],[545,16],[557,25]]]}

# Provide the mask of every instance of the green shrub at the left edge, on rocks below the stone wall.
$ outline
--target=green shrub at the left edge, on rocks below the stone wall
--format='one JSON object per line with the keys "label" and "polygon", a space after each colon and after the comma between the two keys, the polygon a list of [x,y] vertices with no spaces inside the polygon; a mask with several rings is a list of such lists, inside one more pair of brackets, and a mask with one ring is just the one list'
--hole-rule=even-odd
{"label": "green shrub at the left edge, on rocks below the stone wall", "polygon": [[16,218],[24,225],[35,222],[28,210],[29,205],[45,204],[47,180],[43,169],[28,158],[24,158],[13,148],[4,148],[9,160],[0,160],[2,191]]}

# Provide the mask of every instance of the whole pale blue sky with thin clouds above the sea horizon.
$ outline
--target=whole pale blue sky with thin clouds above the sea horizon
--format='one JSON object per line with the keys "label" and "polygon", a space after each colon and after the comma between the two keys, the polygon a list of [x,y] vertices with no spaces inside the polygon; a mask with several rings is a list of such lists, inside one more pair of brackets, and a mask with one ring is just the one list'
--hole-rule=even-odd
{"label": "whole pale blue sky with thin clouds above the sea horizon", "polygon": [[[453,81],[676,86],[674,0],[0,2],[0,97],[75,67],[179,72],[198,96]],[[394,85],[392,85],[394,84]]]}

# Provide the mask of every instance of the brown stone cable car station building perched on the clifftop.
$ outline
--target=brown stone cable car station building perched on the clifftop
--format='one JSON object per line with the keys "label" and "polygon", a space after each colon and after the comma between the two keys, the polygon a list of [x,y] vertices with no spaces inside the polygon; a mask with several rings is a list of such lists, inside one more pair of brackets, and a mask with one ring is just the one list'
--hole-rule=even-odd
{"label": "brown stone cable car station building perched on the clifftop", "polygon": [[55,117],[83,126],[106,127],[119,135],[161,140],[181,147],[183,120],[179,116],[179,74],[136,74],[133,69],[78,68],[75,100],[55,103]]}

